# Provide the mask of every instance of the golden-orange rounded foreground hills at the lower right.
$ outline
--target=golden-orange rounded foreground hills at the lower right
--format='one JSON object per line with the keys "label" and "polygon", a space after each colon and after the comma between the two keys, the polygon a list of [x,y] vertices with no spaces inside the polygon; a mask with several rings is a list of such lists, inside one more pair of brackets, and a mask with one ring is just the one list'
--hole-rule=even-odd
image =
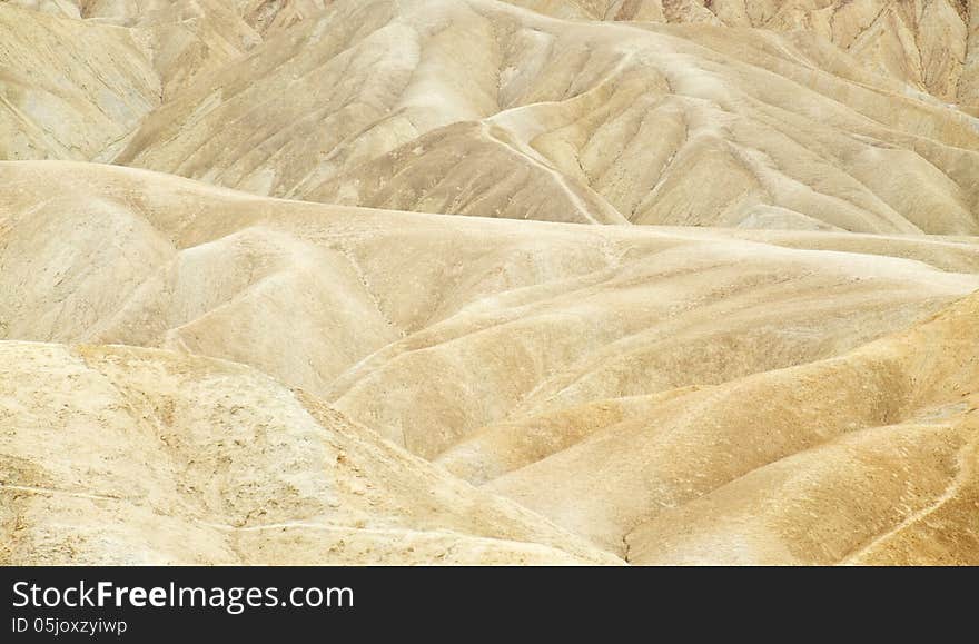
{"label": "golden-orange rounded foreground hills at the lower right", "polygon": [[645,402],[487,488],[633,563],[976,564],[977,305]]}

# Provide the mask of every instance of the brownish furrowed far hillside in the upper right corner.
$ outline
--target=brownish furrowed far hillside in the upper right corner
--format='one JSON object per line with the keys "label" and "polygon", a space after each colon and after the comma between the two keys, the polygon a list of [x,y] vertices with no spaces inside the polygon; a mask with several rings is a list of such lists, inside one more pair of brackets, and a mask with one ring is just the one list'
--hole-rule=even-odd
{"label": "brownish furrowed far hillside in the upper right corner", "polygon": [[561,18],[805,30],[867,69],[975,110],[972,0],[511,0]]}

